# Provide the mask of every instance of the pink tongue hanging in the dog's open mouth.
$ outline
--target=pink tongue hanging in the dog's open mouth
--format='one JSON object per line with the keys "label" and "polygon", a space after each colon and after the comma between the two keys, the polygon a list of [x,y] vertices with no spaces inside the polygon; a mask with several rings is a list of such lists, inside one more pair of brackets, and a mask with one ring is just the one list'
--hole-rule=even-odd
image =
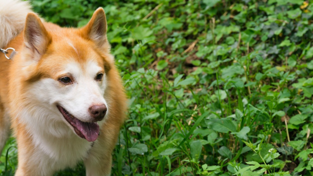
{"label": "pink tongue hanging in the dog's open mouth", "polygon": [[[99,136],[99,125],[96,122],[82,122],[75,118],[76,128],[89,142],[95,141]],[[77,132],[76,132],[77,133]],[[78,136],[80,136],[78,134]]]}

